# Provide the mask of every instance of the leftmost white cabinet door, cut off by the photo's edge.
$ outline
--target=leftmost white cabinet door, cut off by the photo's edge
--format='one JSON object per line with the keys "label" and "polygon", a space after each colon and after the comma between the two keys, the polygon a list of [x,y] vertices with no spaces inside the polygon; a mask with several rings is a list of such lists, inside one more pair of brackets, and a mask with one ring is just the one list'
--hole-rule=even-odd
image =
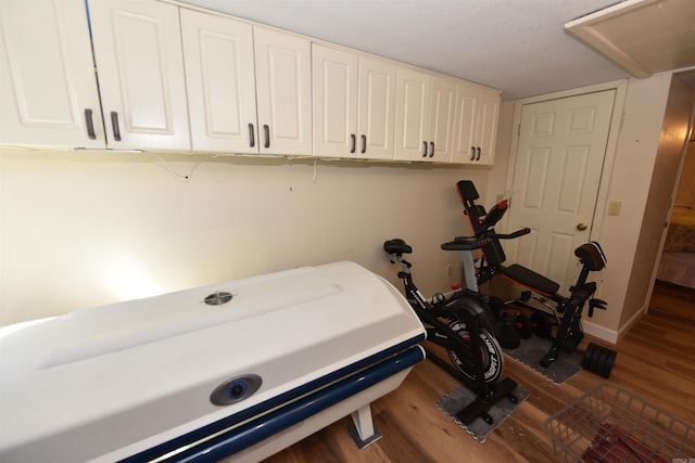
{"label": "leftmost white cabinet door, cut off by the photo's edge", "polygon": [[1,0],[0,50],[0,143],[105,147],[81,0]]}

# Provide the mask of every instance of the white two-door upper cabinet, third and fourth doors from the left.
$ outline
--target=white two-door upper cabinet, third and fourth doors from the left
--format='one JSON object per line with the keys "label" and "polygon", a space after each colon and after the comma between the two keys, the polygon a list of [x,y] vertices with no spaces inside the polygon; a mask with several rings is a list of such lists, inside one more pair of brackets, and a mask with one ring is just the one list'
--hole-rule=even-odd
{"label": "white two-door upper cabinet, third and fourth doors from the left", "polygon": [[180,14],[192,149],[311,155],[309,42],[225,16]]}

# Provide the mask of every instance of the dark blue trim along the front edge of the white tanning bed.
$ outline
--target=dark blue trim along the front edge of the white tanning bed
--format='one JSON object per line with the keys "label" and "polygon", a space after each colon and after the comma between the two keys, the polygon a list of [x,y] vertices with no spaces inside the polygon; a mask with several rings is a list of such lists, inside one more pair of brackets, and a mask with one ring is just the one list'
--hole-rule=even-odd
{"label": "dark blue trim along the front edge of the white tanning bed", "polygon": [[[336,370],[334,372],[331,372],[312,382],[308,382],[299,387],[295,387],[294,389],[291,389],[287,393],[275,396],[264,402],[261,402],[248,409],[241,410],[238,413],[235,413],[215,423],[211,423],[199,429],[192,430],[180,437],[174,438],[167,442],[164,442],[151,449],[144,450],[132,456],[128,456],[124,459],[122,463],[140,463],[140,462],[151,461],[151,460],[161,458],[162,455],[165,455],[167,453],[175,452],[176,450],[182,447],[192,446],[197,441],[205,439],[207,438],[207,436],[211,436],[214,434],[222,434],[223,436],[226,436],[225,440],[229,440],[231,442],[231,443],[223,445],[225,454],[219,456],[219,453],[222,451],[214,450],[214,449],[217,449],[218,447],[216,445],[214,446],[213,450],[210,450],[215,452],[215,456],[213,458],[213,460],[208,460],[208,456],[207,456],[208,451],[201,452],[201,454],[197,453],[195,458],[204,458],[203,461],[214,461],[214,459],[218,460],[220,458],[224,458],[225,455],[231,454],[233,452],[238,452],[243,448],[249,447],[252,443],[255,443],[256,441],[260,441],[266,437],[269,437],[271,434],[277,433],[282,428],[286,428],[301,420],[304,420],[324,410],[325,408],[328,408],[339,402],[340,400],[351,395],[354,395],[359,390],[366,389],[367,387],[372,386],[379,381],[382,381],[383,378],[391,376],[392,374],[397,373],[399,371],[404,370],[419,362],[425,358],[425,356],[421,352],[421,349],[419,348],[419,346],[416,346],[416,345],[417,343],[424,339],[425,339],[425,334],[421,334],[410,339],[407,339],[405,342],[399,343],[394,346],[389,347],[388,349],[384,349],[380,352],[366,357],[365,359],[362,359],[342,369]],[[408,349],[408,350],[404,351],[405,349]],[[331,383],[336,383],[336,384],[331,385]],[[326,387],[327,385],[329,386]],[[318,394],[311,395],[312,391],[316,389],[320,389],[321,387],[325,387],[325,389],[320,390]],[[341,391],[341,394],[343,395],[338,398],[338,396],[336,396],[337,391]],[[346,391],[349,391],[349,394],[346,394]],[[282,408],[283,404],[287,404],[302,396],[307,396],[307,397],[296,401],[295,403],[292,403],[289,407]],[[326,402],[330,402],[330,404],[326,404]],[[318,406],[320,406],[321,408],[317,408]],[[254,416],[257,416],[275,408],[280,408],[280,410],[268,414],[268,416],[264,416],[262,420],[252,421],[251,423],[245,424],[239,427],[238,429],[233,429],[225,433],[225,429],[232,427],[243,421],[251,420]],[[286,409],[292,410],[292,413],[299,412],[303,415],[303,417],[296,419],[294,423],[289,423],[289,421],[292,421],[293,417],[289,417],[289,419],[287,417]],[[277,417],[273,417],[275,415],[281,415],[285,417],[281,419],[280,421],[277,421],[278,420]],[[270,426],[270,424],[265,423],[266,420],[270,420],[274,426],[273,427],[274,430],[270,434],[267,434],[267,430],[266,430],[266,429],[269,429],[269,426]],[[260,422],[260,423],[256,423],[256,422]],[[252,426],[251,433],[247,429],[249,426]],[[278,427],[278,426],[281,426],[281,427]],[[258,429],[253,430],[255,428],[258,428]],[[239,438],[236,437],[238,434],[242,437],[239,437]],[[261,435],[263,435],[263,437],[256,438],[256,436],[261,436]],[[215,441],[219,439],[222,439],[222,437],[215,438]],[[242,440],[239,440],[239,439],[242,439]],[[243,447],[239,447],[240,446],[239,442],[243,442]],[[172,456],[170,459],[166,459],[162,461],[170,461],[170,462],[189,461],[188,458],[181,460],[184,455],[187,455],[187,454],[188,452],[177,454],[175,456]],[[197,461],[200,461],[200,460],[197,460]]]}

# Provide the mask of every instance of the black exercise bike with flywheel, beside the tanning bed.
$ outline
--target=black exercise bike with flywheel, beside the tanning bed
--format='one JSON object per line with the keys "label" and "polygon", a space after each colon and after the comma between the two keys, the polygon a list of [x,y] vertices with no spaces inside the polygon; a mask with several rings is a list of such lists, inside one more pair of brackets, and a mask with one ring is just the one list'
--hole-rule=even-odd
{"label": "black exercise bike with flywheel, beside the tanning bed", "polygon": [[[457,246],[462,244],[457,243]],[[478,246],[477,240],[465,244],[471,252]],[[427,358],[476,394],[476,399],[459,410],[456,417],[464,425],[478,416],[492,424],[493,419],[488,413],[492,406],[505,398],[513,403],[518,399],[513,394],[516,382],[502,375],[503,352],[492,334],[489,311],[464,292],[450,298],[439,294],[430,303],[413,283],[412,263],[403,258],[413,248],[403,240],[394,239],[383,243],[383,249],[391,256],[392,263],[401,265],[399,278],[403,281],[405,297],[425,325],[427,339],[444,347],[451,363],[428,349]]]}

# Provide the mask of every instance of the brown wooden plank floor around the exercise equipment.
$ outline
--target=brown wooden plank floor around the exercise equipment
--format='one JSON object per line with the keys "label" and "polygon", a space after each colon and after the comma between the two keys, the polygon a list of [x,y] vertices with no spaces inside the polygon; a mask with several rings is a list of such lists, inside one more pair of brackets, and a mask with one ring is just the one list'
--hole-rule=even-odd
{"label": "brown wooden plank floor around the exercise equipment", "polygon": [[[531,396],[484,443],[446,417],[435,402],[458,384],[429,361],[371,404],[383,437],[357,450],[345,417],[266,460],[286,462],[555,462],[544,421],[601,383],[619,385],[671,414],[695,416],[695,290],[658,284],[648,313],[615,346],[609,380],[581,371],[561,385],[506,359],[505,372]],[[692,455],[695,458],[695,455]]]}

